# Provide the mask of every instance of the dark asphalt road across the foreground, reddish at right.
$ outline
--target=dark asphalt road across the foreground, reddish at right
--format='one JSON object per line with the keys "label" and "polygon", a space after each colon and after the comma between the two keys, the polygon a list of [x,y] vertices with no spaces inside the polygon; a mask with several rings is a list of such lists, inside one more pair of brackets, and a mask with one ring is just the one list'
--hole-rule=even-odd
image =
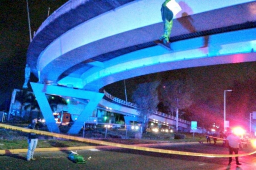
{"label": "dark asphalt road across the foreground, reddish at right", "polygon": [[[156,146],[150,146],[156,147]],[[191,145],[165,145],[161,149],[228,154],[228,148],[218,145],[191,144]],[[239,153],[251,152],[251,148],[244,148]],[[228,166],[228,158],[208,158],[197,156],[184,156],[174,154],[164,154],[156,152],[145,152],[123,148],[107,148],[100,150],[78,150],[87,163],[76,164],[68,159],[65,152],[36,152],[35,161],[26,161],[26,153],[10,154],[0,156],[1,170],[252,170],[256,168],[256,155],[239,157],[241,166],[236,166],[233,160]],[[91,159],[88,159],[91,157]]]}

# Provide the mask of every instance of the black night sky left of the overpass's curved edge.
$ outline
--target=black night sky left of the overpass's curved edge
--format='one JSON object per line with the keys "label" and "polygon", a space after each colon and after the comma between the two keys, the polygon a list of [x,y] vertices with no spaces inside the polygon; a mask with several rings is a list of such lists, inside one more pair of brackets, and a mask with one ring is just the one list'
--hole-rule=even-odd
{"label": "black night sky left of the overpass's curved edge", "polygon": [[[32,37],[50,14],[67,0],[28,0]],[[22,89],[26,53],[30,43],[26,0],[1,0],[0,13],[0,105],[6,108],[13,89]],[[31,81],[37,78],[31,74]],[[9,107],[9,106],[8,106]]]}

